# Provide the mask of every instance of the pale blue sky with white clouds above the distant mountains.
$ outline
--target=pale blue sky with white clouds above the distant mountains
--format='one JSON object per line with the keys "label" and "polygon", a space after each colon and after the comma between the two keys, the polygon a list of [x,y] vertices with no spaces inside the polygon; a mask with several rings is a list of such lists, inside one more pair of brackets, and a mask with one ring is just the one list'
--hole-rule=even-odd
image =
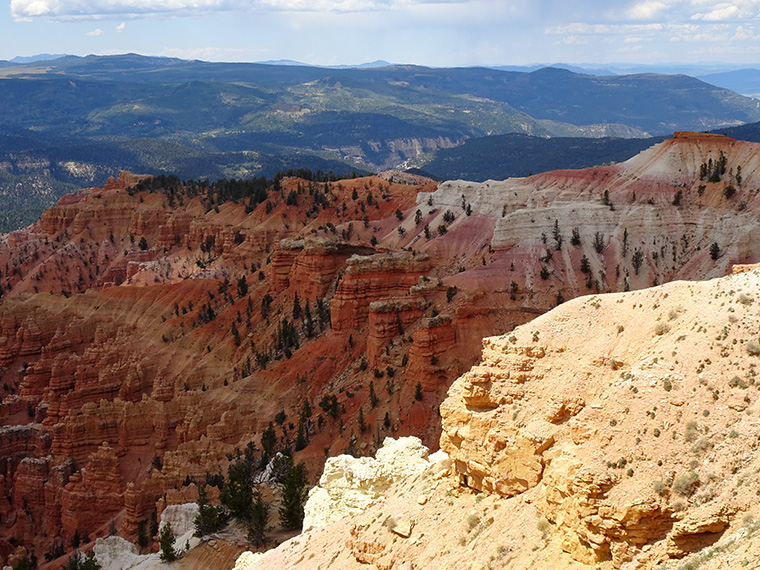
{"label": "pale blue sky with white clouds above the distant mountains", "polygon": [[760,63],[760,0],[10,0],[0,59]]}

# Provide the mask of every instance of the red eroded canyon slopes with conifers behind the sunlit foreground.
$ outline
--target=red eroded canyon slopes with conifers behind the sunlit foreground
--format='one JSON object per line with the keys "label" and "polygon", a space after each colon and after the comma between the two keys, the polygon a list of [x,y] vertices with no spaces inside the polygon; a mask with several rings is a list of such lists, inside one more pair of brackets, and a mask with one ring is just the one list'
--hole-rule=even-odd
{"label": "red eroded canyon slopes with conifers behind the sunlit foreground", "polygon": [[[154,510],[180,501],[174,493],[190,497],[235,449],[260,447],[280,411],[276,445],[292,445],[305,401],[298,459],[312,474],[325,449],[351,441],[368,454],[386,435],[416,435],[435,449],[438,404],[483,337],[588,292],[758,261],[757,148],[679,134],[621,165],[505,182],[284,178],[236,198],[235,188],[135,187],[123,175],[63,198],[0,238],[0,415],[25,430],[0,439],[14,497],[0,507],[12,521],[4,536],[39,556],[76,530],[103,536],[113,520],[134,540]],[[548,348],[513,348],[543,372],[537,354]],[[473,380],[468,405],[527,398],[520,386],[491,394],[489,381]],[[578,398],[556,403],[557,417],[587,410],[591,397]],[[499,475],[478,467],[507,441],[494,440],[462,476],[499,496],[536,492],[562,425],[510,433],[527,463],[504,460]],[[90,467],[104,442],[119,477],[103,461]],[[116,487],[113,512],[88,510]],[[580,544],[598,538],[579,532]],[[599,540],[568,548],[618,556],[619,538]]]}

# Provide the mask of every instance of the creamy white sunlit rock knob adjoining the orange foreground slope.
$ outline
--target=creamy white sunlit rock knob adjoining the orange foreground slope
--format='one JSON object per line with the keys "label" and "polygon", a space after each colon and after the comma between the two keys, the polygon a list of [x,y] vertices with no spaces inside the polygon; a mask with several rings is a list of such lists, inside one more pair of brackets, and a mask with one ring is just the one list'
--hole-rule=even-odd
{"label": "creamy white sunlit rock knob adjoining the orange foreground slope", "polygon": [[319,486],[309,492],[304,506],[304,529],[323,526],[359,513],[395,482],[431,466],[428,448],[417,437],[385,438],[376,458],[350,455],[332,457],[325,463]]}

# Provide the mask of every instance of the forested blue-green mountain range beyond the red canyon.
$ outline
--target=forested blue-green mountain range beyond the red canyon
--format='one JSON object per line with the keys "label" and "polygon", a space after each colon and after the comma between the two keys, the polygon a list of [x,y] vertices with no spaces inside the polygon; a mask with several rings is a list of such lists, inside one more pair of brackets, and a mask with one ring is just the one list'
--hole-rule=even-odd
{"label": "forested blue-green mountain range beyond the red canyon", "polygon": [[478,159],[480,177],[504,177],[518,171],[507,167],[517,156],[519,172],[528,164],[527,172],[537,172],[580,166],[564,158],[581,152],[589,153],[586,162],[597,163],[619,160],[623,148],[640,150],[623,142],[581,150],[581,138],[646,138],[760,120],[757,100],[683,75],[387,62],[323,68],[136,54],[5,62],[0,108],[0,192],[16,197],[4,202],[6,215],[38,208],[24,201],[30,185],[37,198],[49,200],[64,187],[102,184],[120,169],[188,179],[271,176],[298,167],[350,172],[422,166],[446,177],[475,178],[472,161],[450,168],[456,152],[449,149],[472,140],[464,151],[485,152],[479,145],[510,139],[475,139],[518,134],[570,137],[568,148],[578,149],[563,152],[561,142],[513,138],[527,145],[523,150],[542,149],[536,152],[544,158],[522,152]]}

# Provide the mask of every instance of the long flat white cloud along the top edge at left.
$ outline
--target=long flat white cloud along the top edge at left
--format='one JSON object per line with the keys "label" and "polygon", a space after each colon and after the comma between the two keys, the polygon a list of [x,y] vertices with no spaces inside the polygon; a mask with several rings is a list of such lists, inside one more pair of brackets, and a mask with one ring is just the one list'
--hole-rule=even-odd
{"label": "long flat white cloud along the top edge at left", "polygon": [[86,20],[184,16],[209,12],[373,12],[416,5],[467,4],[471,0],[11,0],[19,20]]}

